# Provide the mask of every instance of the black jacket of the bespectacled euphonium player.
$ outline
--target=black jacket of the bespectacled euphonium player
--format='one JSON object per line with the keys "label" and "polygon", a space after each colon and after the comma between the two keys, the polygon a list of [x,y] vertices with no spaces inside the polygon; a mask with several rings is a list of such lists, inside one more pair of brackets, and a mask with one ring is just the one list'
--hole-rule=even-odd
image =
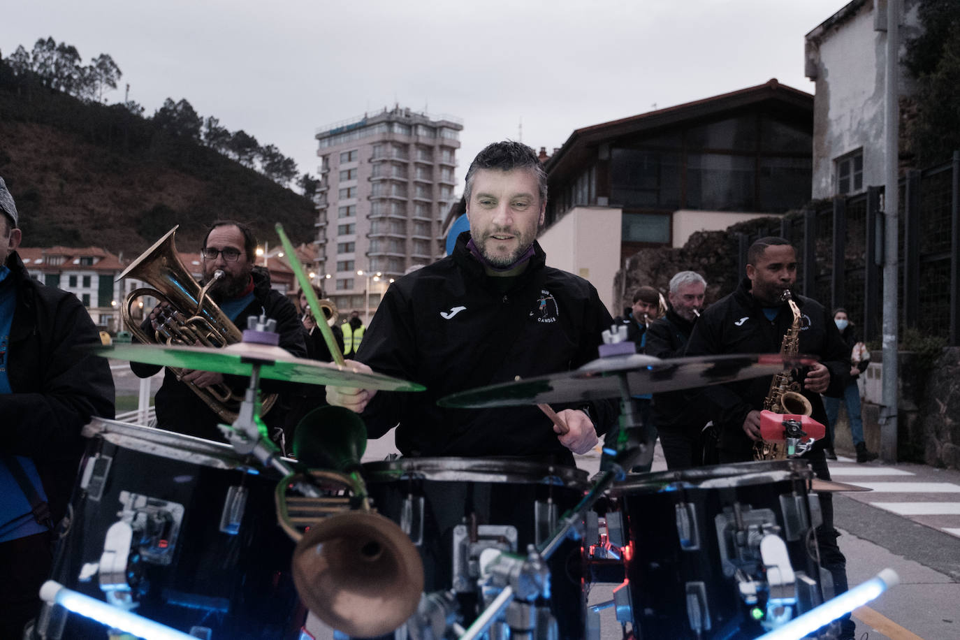
{"label": "black jacket of the bespectacled euphonium player", "polygon": [[[268,319],[276,320],[276,333],[280,334],[279,346],[289,351],[291,355],[305,358],[307,355],[306,344],[303,342],[305,332],[297,308],[294,307],[293,302],[287,296],[271,288],[270,273],[265,269],[254,267],[252,277],[253,301],[237,316],[237,327],[241,331],[245,329],[248,316],[266,315]],[[140,328],[148,335],[154,333],[149,318],[143,320]],[[133,362],[130,367],[133,373],[140,378],[149,378],[162,368],[156,365]],[[248,384],[246,378],[239,376],[227,376],[225,382],[241,395]],[[260,384],[260,391],[264,393],[289,392],[294,389],[296,389],[295,386],[290,383],[275,380],[261,380]],[[207,407],[200,396],[180,382],[169,368],[163,374],[163,385],[156,391],[154,404],[156,406],[156,426],[159,428],[188,436],[224,441],[223,434],[217,428],[217,425],[223,422],[223,419]],[[281,395],[277,398],[274,408],[264,416],[264,421],[272,429],[271,433],[273,433],[273,429],[283,427],[286,409],[286,399]]]}

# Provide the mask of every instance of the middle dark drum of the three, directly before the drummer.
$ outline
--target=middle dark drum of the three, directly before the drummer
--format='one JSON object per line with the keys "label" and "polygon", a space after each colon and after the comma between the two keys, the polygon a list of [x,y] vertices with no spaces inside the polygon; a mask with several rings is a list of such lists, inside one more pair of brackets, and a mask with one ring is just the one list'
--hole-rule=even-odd
{"label": "middle dark drum of the three, directly before the drummer", "polygon": [[[464,626],[482,611],[478,563],[485,549],[525,555],[548,539],[584,495],[587,473],[509,459],[404,458],[364,466],[373,507],[420,550],[424,591],[453,590]],[[547,562],[549,608],[560,637],[584,634],[583,554],[567,539]]]}

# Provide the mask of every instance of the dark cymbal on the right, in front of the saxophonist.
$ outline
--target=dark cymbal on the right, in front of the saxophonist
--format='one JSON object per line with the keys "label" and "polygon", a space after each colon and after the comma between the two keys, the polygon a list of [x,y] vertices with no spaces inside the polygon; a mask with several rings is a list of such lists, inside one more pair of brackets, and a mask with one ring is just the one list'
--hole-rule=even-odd
{"label": "dark cymbal on the right, in front of the saxophonist", "polygon": [[661,360],[629,354],[600,358],[572,371],[459,391],[438,404],[455,409],[517,407],[551,402],[587,402],[619,397],[620,376],[626,374],[631,395],[693,389],[779,373],[785,368],[816,363],[810,356],[733,354]]}

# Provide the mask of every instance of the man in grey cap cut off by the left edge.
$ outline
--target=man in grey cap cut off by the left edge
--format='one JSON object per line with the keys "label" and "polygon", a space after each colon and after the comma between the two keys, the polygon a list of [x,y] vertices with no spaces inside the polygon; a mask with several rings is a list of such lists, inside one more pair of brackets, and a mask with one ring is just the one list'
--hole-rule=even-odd
{"label": "man in grey cap cut off by the left edge", "polygon": [[73,294],[30,277],[16,253],[16,205],[0,178],[0,638],[19,638],[40,609],[51,528],[66,511],[92,415],[113,417],[107,360]]}

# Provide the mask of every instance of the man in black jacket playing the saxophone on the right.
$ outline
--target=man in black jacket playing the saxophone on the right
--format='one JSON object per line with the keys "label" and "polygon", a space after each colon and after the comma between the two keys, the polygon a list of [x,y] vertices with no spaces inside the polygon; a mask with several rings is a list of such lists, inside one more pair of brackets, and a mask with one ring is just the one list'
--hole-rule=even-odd
{"label": "man in black jacket playing the saxophone on the right", "polygon": [[[747,277],[739,287],[711,305],[697,320],[686,345],[686,355],[725,353],[776,353],[794,316],[783,299],[790,290],[800,308],[798,353],[820,359],[809,367],[802,380],[802,392],[813,407],[812,417],[826,424],[827,414],[820,394],[838,396],[850,375],[850,350],[843,342],[828,311],[816,300],[793,292],[797,279],[797,255],[783,238],[757,240],[747,251]],[[770,378],[761,377],[727,385],[713,385],[700,391],[708,411],[719,427],[720,462],[753,459],[754,442],[760,437],[760,410],[770,391]],[[822,439],[804,454],[817,477],[829,480]],[[840,553],[833,528],[833,502],[829,493],[820,494],[823,524],[817,528],[821,565],[833,577],[836,593],[847,590],[846,558]],[[841,620],[841,639],[853,637],[854,625],[847,615]]]}

